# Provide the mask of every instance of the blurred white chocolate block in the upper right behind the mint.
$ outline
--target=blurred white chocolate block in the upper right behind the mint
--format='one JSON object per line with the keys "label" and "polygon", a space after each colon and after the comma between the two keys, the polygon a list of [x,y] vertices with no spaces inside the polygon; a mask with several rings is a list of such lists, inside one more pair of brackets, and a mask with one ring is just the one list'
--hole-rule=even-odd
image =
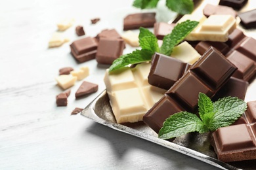
{"label": "blurred white chocolate block in the upper right behind the mint", "polygon": [[[191,18],[190,18],[191,17]],[[194,20],[191,14],[185,15],[179,22]],[[178,23],[179,23],[178,22]],[[228,35],[236,28],[236,19],[231,15],[211,15],[206,20],[200,20],[200,24],[185,38],[188,41],[228,41]]]}

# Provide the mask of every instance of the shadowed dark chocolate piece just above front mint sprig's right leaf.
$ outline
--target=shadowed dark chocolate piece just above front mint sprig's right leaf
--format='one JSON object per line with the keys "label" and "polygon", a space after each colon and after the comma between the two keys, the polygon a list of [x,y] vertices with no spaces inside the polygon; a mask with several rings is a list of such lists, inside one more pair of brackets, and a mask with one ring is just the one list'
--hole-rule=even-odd
{"label": "shadowed dark chocolate piece just above front mint sprig's right leaf", "polygon": [[217,101],[220,98],[228,96],[238,97],[239,99],[244,100],[248,86],[249,84],[245,80],[230,77],[228,82],[226,82],[223,87],[215,94],[215,96],[212,98],[212,101]]}

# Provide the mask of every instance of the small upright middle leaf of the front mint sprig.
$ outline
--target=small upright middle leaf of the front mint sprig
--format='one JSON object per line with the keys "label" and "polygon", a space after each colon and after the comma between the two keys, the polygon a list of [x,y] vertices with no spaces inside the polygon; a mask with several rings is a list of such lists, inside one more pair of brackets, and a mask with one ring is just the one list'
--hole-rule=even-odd
{"label": "small upright middle leaf of the front mint sprig", "polygon": [[[201,92],[198,95],[198,110],[202,120],[205,119],[205,114],[209,112],[213,113],[213,102],[207,95]],[[209,115],[206,117],[209,118]]]}

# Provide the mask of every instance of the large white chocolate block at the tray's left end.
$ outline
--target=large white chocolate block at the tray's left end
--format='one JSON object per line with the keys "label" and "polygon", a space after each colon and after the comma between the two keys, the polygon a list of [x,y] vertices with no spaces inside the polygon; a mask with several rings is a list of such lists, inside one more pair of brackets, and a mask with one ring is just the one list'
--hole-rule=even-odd
{"label": "large white chocolate block at the tray's left end", "polygon": [[127,67],[118,73],[106,70],[104,83],[118,124],[142,121],[166,92],[148,84],[149,72],[150,63],[141,63],[133,69]]}

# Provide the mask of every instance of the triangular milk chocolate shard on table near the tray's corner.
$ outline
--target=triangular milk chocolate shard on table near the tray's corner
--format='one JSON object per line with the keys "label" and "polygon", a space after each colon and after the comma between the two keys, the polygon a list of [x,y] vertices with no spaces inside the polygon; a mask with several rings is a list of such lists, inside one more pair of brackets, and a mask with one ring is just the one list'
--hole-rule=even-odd
{"label": "triangular milk chocolate shard on table near the tray's corner", "polygon": [[75,92],[75,98],[87,95],[89,93],[94,93],[98,91],[98,85],[91,83],[91,82],[86,82],[84,81],[81,86],[78,88],[77,92]]}

